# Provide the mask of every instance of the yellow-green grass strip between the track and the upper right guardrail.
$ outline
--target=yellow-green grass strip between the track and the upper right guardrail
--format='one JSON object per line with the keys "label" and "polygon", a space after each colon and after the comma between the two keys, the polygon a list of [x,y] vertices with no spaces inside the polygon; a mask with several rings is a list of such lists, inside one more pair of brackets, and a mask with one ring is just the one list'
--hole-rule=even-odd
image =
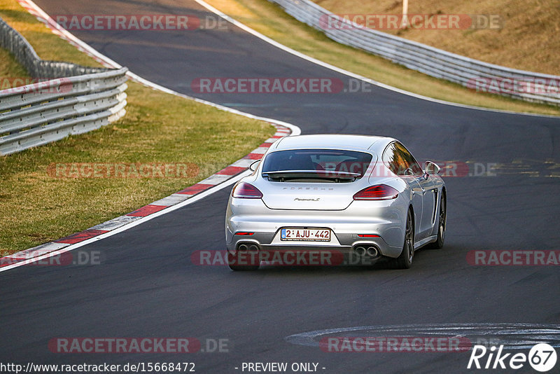
{"label": "yellow-green grass strip between the track and the upper right guardrail", "polygon": [[223,13],[284,46],[393,87],[448,102],[484,108],[560,116],[558,106],[533,104],[468,90],[461,85],[406,69],[363,50],[343,46],[267,0],[206,0]]}

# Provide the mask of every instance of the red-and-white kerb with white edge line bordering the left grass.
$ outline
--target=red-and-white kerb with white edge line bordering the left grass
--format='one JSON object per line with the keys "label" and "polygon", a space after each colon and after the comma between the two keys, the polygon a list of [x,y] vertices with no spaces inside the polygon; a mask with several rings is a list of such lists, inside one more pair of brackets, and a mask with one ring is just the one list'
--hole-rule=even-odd
{"label": "red-and-white kerb with white edge line bordering the left grass", "polygon": [[[84,43],[67,30],[62,29],[62,27],[60,27],[55,22],[55,20],[52,20],[52,18],[50,18],[47,13],[45,13],[41,8],[34,4],[33,1],[18,0],[18,2],[29,13],[34,15],[40,22],[43,22],[49,29],[51,29],[54,34],[57,34],[62,39],[68,41],[73,46],[78,48],[78,50],[87,53],[87,55],[90,55],[94,58],[94,60],[101,62],[106,67],[112,67],[115,69],[119,69],[121,67],[117,62],[111,60],[105,55],[102,55],[97,50],[94,50],[94,48],[87,45],[87,43]],[[181,191],[173,193],[172,195],[161,198],[144,207],[140,207],[139,209],[134,210],[134,212],[130,212],[128,214],[125,214],[124,216],[119,216],[115,219],[99,223],[92,228],[88,228],[78,233],[73,233],[67,237],[53,240],[52,242],[40,244],[33,248],[19,251],[15,254],[1,257],[0,272],[18,268],[19,266],[27,265],[28,263],[40,261],[43,258],[63,254],[64,252],[71,251],[73,249],[82,247],[83,245],[121,233],[125,230],[128,230],[129,228],[133,228],[134,226],[161,216],[162,214],[173,212],[176,209],[179,209],[186,205],[190,205],[193,202],[197,202],[198,200],[201,200],[202,198],[205,198],[212,193],[215,193],[225,187],[232,185],[243,176],[250,174],[251,172],[247,169],[248,166],[251,165],[253,160],[262,158],[262,154],[265,153],[267,149],[272,145],[272,143],[277,139],[290,136],[290,134],[301,134],[300,127],[292,125],[291,123],[274,120],[272,118],[254,116],[251,113],[237,111],[236,109],[231,109],[227,106],[208,102],[202,99],[197,99],[196,97],[190,97],[188,95],[183,95],[179,92],[169,90],[169,88],[158,85],[157,83],[148,81],[141,76],[137,76],[137,74],[134,74],[131,71],[127,73],[127,76],[129,76],[133,81],[137,81],[138,83],[153,88],[154,90],[159,90],[170,95],[183,97],[184,99],[190,99],[200,104],[214,106],[216,109],[220,109],[229,113],[235,113],[246,118],[252,118],[255,120],[261,120],[263,122],[270,123],[271,125],[274,125],[274,127],[276,127],[276,133],[271,138],[265,139],[264,143],[260,144],[260,146],[251,151],[251,153],[248,153],[248,155],[245,155],[243,158],[240,158],[239,160],[233,162],[231,165],[225,167],[224,169],[221,169],[215,174],[208,176],[206,179],[200,181],[199,183],[195,183],[193,186],[189,186]]]}

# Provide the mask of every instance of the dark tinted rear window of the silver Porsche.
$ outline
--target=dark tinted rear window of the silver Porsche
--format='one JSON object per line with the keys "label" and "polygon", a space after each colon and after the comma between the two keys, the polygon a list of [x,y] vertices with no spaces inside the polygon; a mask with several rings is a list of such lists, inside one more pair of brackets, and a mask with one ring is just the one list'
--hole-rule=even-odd
{"label": "dark tinted rear window of the silver Porsche", "polygon": [[[370,153],[335,149],[295,149],[269,153],[262,165],[262,175],[272,179],[296,172],[311,178],[360,179],[372,162]],[[286,173],[281,173],[286,172]],[[267,174],[269,173],[269,174]],[[303,175],[302,175],[303,176]]]}

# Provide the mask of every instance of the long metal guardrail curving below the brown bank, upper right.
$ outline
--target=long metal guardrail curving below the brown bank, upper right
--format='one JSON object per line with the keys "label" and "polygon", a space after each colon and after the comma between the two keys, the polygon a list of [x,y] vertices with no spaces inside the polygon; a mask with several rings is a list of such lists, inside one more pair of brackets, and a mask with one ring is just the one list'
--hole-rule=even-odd
{"label": "long metal guardrail curving below the brown bank, upper right", "polygon": [[[374,29],[367,29],[349,20],[339,18],[309,0],[269,1],[278,4],[289,15],[320,30],[334,41],[366,50],[409,69],[472,89],[476,89],[480,83],[488,85],[491,82],[502,85],[500,89],[496,90],[496,93],[500,93],[500,95],[528,102],[560,105],[560,91],[554,90],[554,85],[557,88],[560,83],[560,76],[501,67]],[[332,23],[328,23],[329,18],[335,19],[336,25],[342,24],[347,27],[327,27],[327,25],[332,25]],[[547,87],[546,85],[549,85],[550,82],[552,82],[552,90],[542,86],[544,84]]]}

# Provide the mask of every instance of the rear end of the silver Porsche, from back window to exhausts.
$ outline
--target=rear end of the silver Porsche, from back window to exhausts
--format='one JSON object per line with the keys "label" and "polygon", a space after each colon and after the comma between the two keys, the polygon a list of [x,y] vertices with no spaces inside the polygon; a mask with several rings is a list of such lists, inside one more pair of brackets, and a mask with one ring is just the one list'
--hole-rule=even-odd
{"label": "rear end of the silver Porsche, from back window to exhausts", "polygon": [[365,150],[268,153],[232,189],[225,227],[228,251],[283,265],[374,263],[382,256],[397,257],[407,198],[394,177],[371,183],[376,164],[377,155]]}

